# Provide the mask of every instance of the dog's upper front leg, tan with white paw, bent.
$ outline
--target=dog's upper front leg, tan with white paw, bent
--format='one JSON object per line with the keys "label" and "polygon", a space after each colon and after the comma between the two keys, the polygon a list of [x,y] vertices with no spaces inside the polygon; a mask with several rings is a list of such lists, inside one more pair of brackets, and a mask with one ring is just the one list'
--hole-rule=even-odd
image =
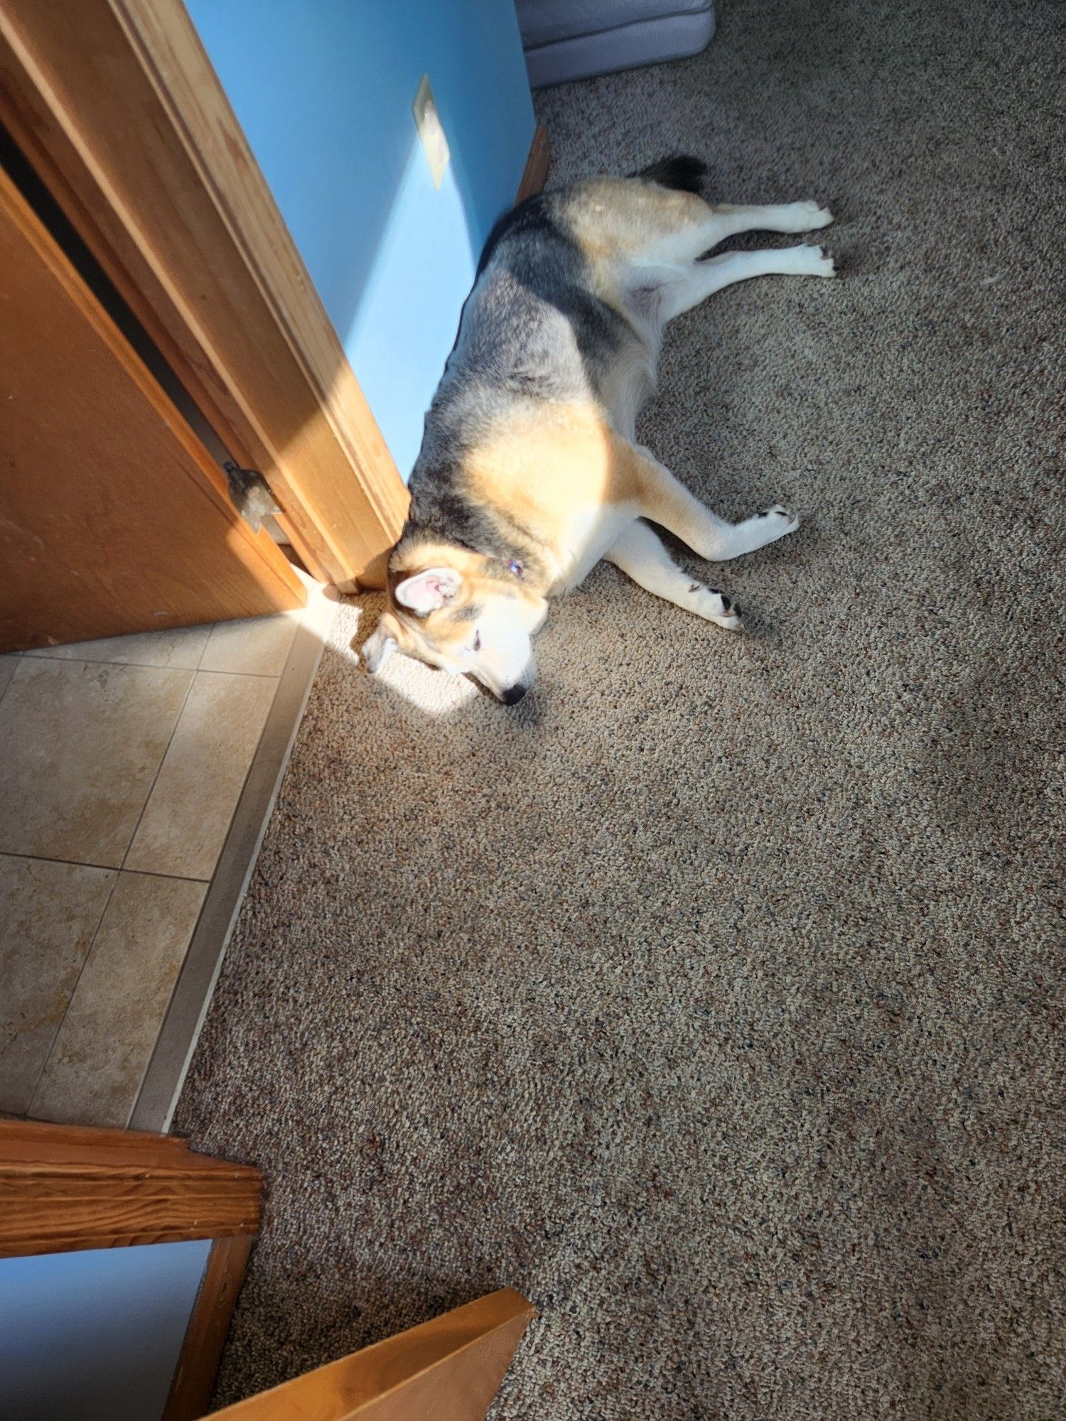
{"label": "dog's upper front leg, tan with white paw, bent", "polygon": [[641,516],[668,529],[709,563],[743,557],[799,527],[799,517],[779,503],[742,523],[726,523],[694,497],[650,450],[637,445],[624,445],[624,449],[631,460],[628,472]]}

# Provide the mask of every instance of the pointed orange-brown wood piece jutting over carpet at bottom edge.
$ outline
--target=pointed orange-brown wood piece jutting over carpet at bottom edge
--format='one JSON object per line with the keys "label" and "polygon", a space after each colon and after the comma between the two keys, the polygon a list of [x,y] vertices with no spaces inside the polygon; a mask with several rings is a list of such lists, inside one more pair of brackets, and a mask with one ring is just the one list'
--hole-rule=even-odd
{"label": "pointed orange-brown wood piece jutting over carpet at bottom edge", "polygon": [[216,1421],[483,1421],[533,1304],[500,1287],[372,1347],[213,1411]]}

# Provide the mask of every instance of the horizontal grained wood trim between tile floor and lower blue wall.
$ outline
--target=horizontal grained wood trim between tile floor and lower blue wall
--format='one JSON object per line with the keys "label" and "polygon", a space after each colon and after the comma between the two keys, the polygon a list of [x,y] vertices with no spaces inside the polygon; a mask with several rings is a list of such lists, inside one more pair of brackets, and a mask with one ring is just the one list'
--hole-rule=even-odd
{"label": "horizontal grained wood trim between tile floor and lower blue wall", "polygon": [[259,1229],[259,1169],[115,1134],[0,1120],[0,1258]]}

